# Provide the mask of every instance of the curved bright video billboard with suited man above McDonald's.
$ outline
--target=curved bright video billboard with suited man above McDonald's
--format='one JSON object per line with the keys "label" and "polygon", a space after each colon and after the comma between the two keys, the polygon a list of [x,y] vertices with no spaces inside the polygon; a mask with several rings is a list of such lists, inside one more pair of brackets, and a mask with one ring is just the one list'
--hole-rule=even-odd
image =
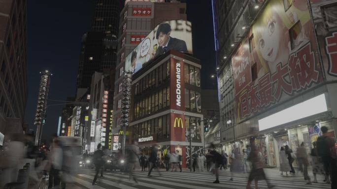
{"label": "curved bright video billboard with suited man above McDonald's", "polygon": [[193,53],[191,22],[171,20],[157,25],[125,58],[125,70],[136,73],[148,61],[169,50]]}

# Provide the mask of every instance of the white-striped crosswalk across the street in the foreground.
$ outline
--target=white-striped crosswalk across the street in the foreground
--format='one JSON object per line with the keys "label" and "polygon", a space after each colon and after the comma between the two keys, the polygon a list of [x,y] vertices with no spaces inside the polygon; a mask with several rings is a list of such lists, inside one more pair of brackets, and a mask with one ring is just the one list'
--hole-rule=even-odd
{"label": "white-striped crosswalk across the street in the foreground", "polygon": [[[74,178],[76,185],[87,189],[246,189],[247,178],[236,177],[230,181],[230,177],[221,176],[220,184],[213,184],[213,175],[190,172],[161,172],[161,176],[154,172],[152,177],[147,177],[147,172],[135,172],[138,185],[129,175],[121,173],[104,173],[104,177],[98,179],[99,185],[92,186],[94,172],[78,174]],[[305,182],[270,181],[275,185],[274,189],[330,189],[327,184],[305,185]],[[252,183],[252,188],[254,184]],[[265,181],[259,181],[260,189],[267,189]]]}

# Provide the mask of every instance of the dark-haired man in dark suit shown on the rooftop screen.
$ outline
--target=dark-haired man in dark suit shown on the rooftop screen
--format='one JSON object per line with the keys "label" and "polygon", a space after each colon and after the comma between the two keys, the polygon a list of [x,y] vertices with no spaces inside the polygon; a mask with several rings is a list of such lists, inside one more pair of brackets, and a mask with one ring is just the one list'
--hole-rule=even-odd
{"label": "dark-haired man in dark suit shown on the rooftop screen", "polygon": [[163,54],[169,50],[187,52],[186,42],[177,38],[170,37],[170,33],[171,27],[168,23],[162,23],[159,25],[156,33],[156,39],[159,45],[156,51],[156,56]]}

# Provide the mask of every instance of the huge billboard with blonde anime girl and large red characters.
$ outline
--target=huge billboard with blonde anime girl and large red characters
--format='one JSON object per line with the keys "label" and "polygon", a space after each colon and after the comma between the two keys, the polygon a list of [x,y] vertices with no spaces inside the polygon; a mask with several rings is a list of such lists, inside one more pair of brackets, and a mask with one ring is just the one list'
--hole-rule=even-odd
{"label": "huge billboard with blonde anime girl and large red characters", "polygon": [[270,0],[232,56],[237,121],[323,81],[306,0]]}

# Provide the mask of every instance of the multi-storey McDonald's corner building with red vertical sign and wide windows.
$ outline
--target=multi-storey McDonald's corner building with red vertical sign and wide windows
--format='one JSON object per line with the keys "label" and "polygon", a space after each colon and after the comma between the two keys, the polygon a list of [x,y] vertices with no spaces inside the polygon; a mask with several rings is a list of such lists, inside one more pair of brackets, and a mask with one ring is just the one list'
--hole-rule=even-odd
{"label": "multi-storey McDonald's corner building with red vertical sign and wide windows", "polygon": [[134,73],[129,141],[144,154],[158,144],[159,157],[178,151],[183,167],[189,157],[189,127],[193,152],[203,152],[201,63],[190,54],[171,50],[150,60]]}

